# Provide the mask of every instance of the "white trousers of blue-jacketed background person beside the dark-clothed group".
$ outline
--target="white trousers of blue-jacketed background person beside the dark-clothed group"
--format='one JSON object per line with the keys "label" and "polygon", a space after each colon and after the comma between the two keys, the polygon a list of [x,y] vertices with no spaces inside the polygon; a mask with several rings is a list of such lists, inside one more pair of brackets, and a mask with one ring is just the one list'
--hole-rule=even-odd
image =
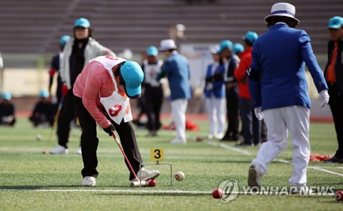
{"label": "white trousers of blue-jacketed background person beside the dark-clothed group", "polygon": [[209,114],[209,125],[211,134],[224,133],[225,127],[225,99],[206,97],[206,108]]}

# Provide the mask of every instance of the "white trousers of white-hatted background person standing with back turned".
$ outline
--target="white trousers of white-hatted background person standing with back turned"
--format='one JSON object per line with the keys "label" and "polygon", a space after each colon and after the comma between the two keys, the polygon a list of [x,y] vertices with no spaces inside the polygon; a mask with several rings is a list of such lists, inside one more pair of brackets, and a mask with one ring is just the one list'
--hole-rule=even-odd
{"label": "white trousers of white-hatted background person standing with back turned", "polygon": [[176,99],[171,101],[171,114],[173,115],[175,127],[176,127],[176,138],[179,140],[186,139],[186,110],[187,110],[187,99]]}

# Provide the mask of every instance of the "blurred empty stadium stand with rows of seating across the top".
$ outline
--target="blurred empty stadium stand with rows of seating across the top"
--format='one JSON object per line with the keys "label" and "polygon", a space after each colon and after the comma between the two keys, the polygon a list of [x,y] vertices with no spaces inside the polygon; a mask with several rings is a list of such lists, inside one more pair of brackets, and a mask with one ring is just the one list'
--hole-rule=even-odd
{"label": "blurred empty stadium stand with rows of seating across the top", "polygon": [[[61,34],[71,34],[73,21],[88,18],[94,38],[115,52],[134,53],[168,38],[169,27],[186,26],[184,43],[241,41],[248,30],[267,30],[263,17],[274,0],[0,0],[1,53],[56,52]],[[325,54],[327,21],[342,16],[342,0],[290,0],[300,19],[298,28],[311,36],[316,54]]]}

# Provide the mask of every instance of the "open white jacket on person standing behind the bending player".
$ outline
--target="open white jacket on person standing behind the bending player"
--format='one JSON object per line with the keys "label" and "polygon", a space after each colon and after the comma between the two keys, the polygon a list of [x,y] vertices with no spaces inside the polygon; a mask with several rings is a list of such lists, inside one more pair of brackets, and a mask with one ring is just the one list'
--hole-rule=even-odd
{"label": "open white jacket on person standing behind the bending player", "polygon": [[[70,38],[67,40],[66,45],[63,50],[63,60],[60,64],[60,76],[62,82],[67,85],[68,89],[71,89],[71,79],[70,79],[70,68],[69,68],[69,58],[71,52],[73,51],[73,43],[75,38]],[[115,53],[110,49],[102,46],[93,38],[89,38],[86,47],[84,48],[84,66],[88,64],[90,60],[98,57],[99,55],[110,55],[115,57]]]}

